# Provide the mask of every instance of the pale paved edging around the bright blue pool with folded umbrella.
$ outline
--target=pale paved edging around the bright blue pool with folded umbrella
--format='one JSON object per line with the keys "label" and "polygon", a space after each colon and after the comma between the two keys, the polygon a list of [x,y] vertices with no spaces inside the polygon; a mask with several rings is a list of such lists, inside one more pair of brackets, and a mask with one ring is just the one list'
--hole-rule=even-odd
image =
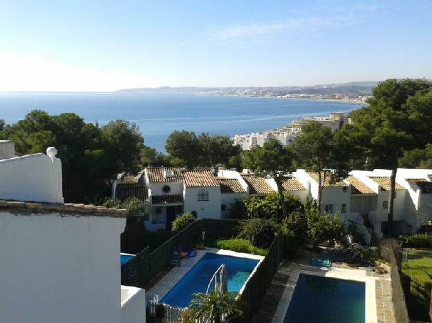
{"label": "pale paved edging around the bright blue pool with folded umbrella", "polygon": [[255,273],[256,269],[258,268],[259,264],[261,264],[261,262],[264,259],[264,256],[261,255],[252,255],[250,253],[237,253],[235,251],[218,249],[218,248],[205,248],[203,250],[197,250],[195,257],[182,260],[182,265],[180,267],[178,266],[173,267],[171,271],[167,273],[167,275],[162,277],[162,279],[157,284],[155,284],[153,287],[149,289],[147,295],[151,295],[151,296],[158,295],[158,299],[162,300],[162,298],[165,297],[165,295],[167,295],[169,291],[171,291],[171,288],[176,286],[176,284],[180,282],[182,277],[184,277],[187,273],[189,273],[191,268],[194,267],[195,264],[199,262],[200,259],[204,257],[206,253],[215,253],[216,255],[228,255],[232,257],[259,260],[258,264],[256,264],[252,273],[250,273],[249,277],[247,277],[247,280],[245,281],[245,284],[243,284],[241,290],[238,291],[239,294],[243,293],[243,290],[247,282],[250,280],[250,277],[252,277],[252,275]]}

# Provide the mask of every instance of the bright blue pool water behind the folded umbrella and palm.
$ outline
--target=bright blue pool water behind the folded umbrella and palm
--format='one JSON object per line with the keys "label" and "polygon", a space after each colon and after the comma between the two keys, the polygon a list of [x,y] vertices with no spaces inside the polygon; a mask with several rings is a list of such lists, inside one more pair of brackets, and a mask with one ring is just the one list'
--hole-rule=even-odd
{"label": "bright blue pool water behind the folded umbrella and palm", "polygon": [[212,276],[221,264],[227,268],[228,291],[238,292],[259,260],[206,253],[160,302],[187,307],[194,293],[205,293]]}

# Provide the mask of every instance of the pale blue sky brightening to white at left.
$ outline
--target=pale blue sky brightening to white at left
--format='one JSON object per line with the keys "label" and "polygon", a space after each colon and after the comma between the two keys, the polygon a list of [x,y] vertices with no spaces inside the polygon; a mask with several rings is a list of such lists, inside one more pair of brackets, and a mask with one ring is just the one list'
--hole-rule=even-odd
{"label": "pale blue sky brightening to white at left", "polygon": [[0,0],[0,91],[432,78],[431,0]]}

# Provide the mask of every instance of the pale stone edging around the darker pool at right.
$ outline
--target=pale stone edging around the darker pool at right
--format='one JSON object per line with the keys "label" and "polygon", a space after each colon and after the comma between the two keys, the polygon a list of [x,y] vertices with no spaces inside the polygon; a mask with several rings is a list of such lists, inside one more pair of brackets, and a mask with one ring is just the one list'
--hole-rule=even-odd
{"label": "pale stone edging around the darker pool at right", "polygon": [[352,280],[355,282],[365,283],[365,323],[377,323],[377,306],[376,306],[376,295],[375,295],[375,281],[378,277],[367,276],[364,268],[353,269],[353,268],[335,268],[335,267],[315,267],[303,264],[290,263],[290,277],[286,284],[279,304],[272,318],[272,323],[283,322],[285,314],[290,306],[292,294],[294,293],[295,286],[299,275],[315,275],[321,277],[331,277],[340,280]]}

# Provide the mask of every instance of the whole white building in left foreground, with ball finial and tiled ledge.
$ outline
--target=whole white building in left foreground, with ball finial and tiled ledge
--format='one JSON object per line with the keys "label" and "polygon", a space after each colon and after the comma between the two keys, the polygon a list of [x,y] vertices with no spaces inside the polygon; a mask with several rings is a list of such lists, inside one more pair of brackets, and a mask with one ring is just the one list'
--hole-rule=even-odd
{"label": "whole white building in left foreground, with ball finial and tiled ledge", "polygon": [[64,204],[56,153],[0,160],[0,322],[145,322],[120,282],[127,211]]}

